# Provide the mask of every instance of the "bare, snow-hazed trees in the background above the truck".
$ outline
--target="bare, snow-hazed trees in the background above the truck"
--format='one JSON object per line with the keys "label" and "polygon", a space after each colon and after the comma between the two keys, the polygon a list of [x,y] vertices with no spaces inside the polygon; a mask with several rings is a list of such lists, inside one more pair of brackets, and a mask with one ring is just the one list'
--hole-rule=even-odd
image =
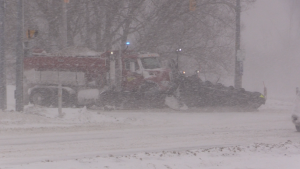
{"label": "bare, snow-hazed trees in the background above the truck", "polygon": [[[6,1],[6,51],[13,53],[16,0]],[[125,47],[174,57],[195,58],[205,71],[231,72],[234,59],[236,0],[197,0],[189,11],[182,0],[72,0],[67,4],[68,46],[97,51]],[[254,0],[243,0],[243,9]],[[25,1],[25,29],[36,29],[35,46],[59,50],[62,0]]]}

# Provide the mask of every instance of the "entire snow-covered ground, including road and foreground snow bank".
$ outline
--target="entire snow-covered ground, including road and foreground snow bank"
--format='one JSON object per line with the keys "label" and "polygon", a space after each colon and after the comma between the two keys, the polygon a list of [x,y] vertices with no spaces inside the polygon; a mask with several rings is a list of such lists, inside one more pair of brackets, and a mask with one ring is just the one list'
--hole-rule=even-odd
{"label": "entire snow-covered ground, including road and foreground snow bank", "polygon": [[0,169],[299,169],[292,108],[268,100],[258,112],[81,108],[59,117],[27,106],[0,112]]}

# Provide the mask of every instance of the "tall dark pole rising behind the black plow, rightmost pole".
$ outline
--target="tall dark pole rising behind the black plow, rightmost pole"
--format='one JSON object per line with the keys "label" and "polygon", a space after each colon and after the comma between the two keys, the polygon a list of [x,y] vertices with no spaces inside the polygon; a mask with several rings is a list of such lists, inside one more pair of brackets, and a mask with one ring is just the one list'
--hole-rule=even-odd
{"label": "tall dark pole rising behind the black plow, rightmost pole", "polygon": [[236,39],[235,39],[235,77],[234,87],[239,89],[242,87],[243,61],[240,57],[241,43],[241,1],[236,0]]}

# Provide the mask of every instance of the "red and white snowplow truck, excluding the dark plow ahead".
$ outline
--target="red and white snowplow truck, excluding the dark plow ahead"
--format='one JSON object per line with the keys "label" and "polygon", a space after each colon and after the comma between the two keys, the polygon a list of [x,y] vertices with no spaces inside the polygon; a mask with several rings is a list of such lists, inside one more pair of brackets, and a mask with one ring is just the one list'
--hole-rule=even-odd
{"label": "red and white snowplow truck, excluding the dark plow ahead", "polygon": [[72,56],[39,53],[25,57],[24,91],[29,102],[58,106],[61,86],[63,107],[163,106],[176,84],[172,83],[171,71],[161,67],[160,56],[119,52]]}

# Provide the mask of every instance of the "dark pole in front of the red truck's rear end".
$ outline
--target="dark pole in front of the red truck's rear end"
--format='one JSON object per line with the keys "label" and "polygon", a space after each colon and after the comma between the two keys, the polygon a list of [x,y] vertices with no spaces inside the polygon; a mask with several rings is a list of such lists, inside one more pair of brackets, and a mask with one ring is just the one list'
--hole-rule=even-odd
{"label": "dark pole in front of the red truck's rear end", "polygon": [[24,109],[23,103],[23,0],[18,0],[18,25],[17,25],[17,58],[16,58],[16,111]]}

